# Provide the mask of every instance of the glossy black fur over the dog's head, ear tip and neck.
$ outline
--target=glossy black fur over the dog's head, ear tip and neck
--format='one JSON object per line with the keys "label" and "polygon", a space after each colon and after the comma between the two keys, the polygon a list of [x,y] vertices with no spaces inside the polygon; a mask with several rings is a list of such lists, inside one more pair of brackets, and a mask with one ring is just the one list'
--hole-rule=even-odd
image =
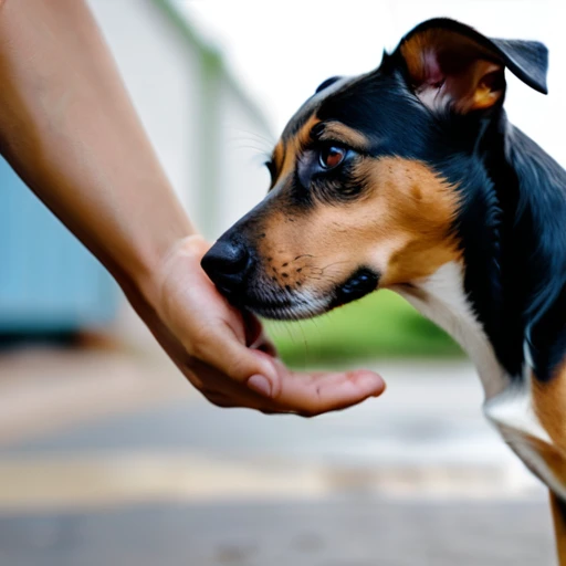
{"label": "glossy black fur over the dog's head, ear tip and neck", "polygon": [[[543,44],[490,40],[446,19],[424,22],[406,39],[438,25],[489,46],[526,84],[546,92]],[[397,50],[384,56],[377,71],[345,84],[314,108],[307,102],[303,112],[363,133],[373,157],[419,159],[458,187],[462,206],[453,229],[476,315],[511,376],[522,377],[526,336],[535,374],[546,380],[566,350],[566,174],[509,124],[502,104],[503,98],[468,115],[430,111],[416,99]],[[306,190],[300,180],[297,190]],[[339,199],[338,191],[334,198]]]}

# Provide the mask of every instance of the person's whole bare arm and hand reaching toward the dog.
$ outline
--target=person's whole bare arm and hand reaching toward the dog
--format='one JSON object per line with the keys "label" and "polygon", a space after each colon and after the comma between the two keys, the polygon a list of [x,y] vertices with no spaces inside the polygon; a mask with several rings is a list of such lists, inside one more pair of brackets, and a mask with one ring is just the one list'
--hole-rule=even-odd
{"label": "person's whole bare arm and hand reaching toward the dog", "polygon": [[301,374],[200,269],[208,249],[154,154],[82,0],[0,0],[0,153],[102,261],[211,402],[314,416],[385,389]]}

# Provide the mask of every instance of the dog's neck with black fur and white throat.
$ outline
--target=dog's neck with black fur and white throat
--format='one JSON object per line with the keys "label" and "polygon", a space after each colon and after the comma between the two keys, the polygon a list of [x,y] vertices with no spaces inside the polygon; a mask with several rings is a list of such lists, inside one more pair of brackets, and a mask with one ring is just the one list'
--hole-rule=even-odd
{"label": "dog's neck with black fur and white throat", "polygon": [[463,265],[398,291],[469,353],[490,398],[531,364],[549,378],[566,350],[566,172],[503,114],[486,135],[462,187]]}

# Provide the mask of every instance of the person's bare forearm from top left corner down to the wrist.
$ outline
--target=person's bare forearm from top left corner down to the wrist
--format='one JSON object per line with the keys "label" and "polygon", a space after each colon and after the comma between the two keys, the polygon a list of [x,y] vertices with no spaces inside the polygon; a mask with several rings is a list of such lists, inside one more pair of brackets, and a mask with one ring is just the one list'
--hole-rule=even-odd
{"label": "person's bare forearm from top left corner down to the wrist", "polygon": [[122,284],[193,231],[83,0],[0,0],[0,151]]}

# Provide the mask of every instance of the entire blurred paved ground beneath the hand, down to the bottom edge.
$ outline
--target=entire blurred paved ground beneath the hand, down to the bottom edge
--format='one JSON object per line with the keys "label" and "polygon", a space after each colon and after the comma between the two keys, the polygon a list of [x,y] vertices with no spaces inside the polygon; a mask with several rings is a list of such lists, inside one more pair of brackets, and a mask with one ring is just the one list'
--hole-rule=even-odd
{"label": "entire blurred paved ground beneath the hand, down to the bottom edge", "polygon": [[163,360],[0,358],[0,565],[549,566],[546,495],[465,363],[380,363],[387,395],[266,418]]}

